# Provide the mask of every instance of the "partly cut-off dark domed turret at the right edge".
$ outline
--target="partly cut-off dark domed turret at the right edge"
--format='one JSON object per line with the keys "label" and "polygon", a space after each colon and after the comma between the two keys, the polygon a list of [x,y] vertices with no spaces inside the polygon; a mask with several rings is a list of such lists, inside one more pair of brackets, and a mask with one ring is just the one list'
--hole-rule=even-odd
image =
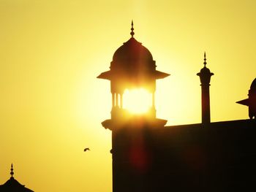
{"label": "partly cut-off dark domed turret at the right edge", "polygon": [[248,99],[237,101],[236,103],[248,106],[249,118],[256,118],[256,78],[252,81],[252,85],[248,93]]}

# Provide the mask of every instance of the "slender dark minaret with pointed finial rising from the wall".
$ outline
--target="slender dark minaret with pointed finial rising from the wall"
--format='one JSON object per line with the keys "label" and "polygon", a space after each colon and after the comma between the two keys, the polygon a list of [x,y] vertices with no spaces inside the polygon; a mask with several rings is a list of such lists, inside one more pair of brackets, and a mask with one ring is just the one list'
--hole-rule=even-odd
{"label": "slender dark minaret with pointed finial rising from the wall", "polygon": [[211,75],[214,75],[210,72],[210,69],[206,67],[206,53],[204,53],[204,66],[197,75],[200,77],[201,82],[201,99],[202,99],[202,123],[211,122],[211,113],[210,113],[210,81]]}

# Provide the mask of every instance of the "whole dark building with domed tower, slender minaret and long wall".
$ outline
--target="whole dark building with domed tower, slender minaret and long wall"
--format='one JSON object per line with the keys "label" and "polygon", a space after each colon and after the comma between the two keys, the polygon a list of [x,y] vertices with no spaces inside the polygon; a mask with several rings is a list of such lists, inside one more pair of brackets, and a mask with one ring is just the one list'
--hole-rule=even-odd
{"label": "whole dark building with domed tower, slender minaret and long wall", "polygon": [[[110,70],[98,78],[110,80],[111,118],[102,126],[112,131],[113,191],[255,191],[255,90],[248,120],[211,122],[209,86],[213,73],[204,66],[197,75],[202,88],[202,122],[165,126],[154,107],[158,72],[149,50],[134,38],[116,50]],[[148,113],[134,115],[123,107],[125,89],[146,88],[152,96]]]}

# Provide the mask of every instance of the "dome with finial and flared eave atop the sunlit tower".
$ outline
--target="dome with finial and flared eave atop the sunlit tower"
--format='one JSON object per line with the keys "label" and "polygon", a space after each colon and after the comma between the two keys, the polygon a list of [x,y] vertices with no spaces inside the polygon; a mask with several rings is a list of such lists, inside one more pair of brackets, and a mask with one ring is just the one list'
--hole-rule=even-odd
{"label": "dome with finial and flared eave atop the sunlit tower", "polygon": [[97,78],[140,82],[162,79],[170,75],[156,70],[156,61],[153,60],[150,51],[133,37],[133,29],[132,23],[132,37],[113,54],[110,70],[102,72]]}

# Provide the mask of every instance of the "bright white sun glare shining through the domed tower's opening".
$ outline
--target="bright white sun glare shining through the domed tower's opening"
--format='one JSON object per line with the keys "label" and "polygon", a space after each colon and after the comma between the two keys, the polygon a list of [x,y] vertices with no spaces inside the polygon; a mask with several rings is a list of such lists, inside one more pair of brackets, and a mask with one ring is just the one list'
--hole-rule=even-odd
{"label": "bright white sun glare shining through the domed tower's opening", "polygon": [[151,107],[151,93],[143,88],[124,91],[124,109],[135,114],[146,113]]}

